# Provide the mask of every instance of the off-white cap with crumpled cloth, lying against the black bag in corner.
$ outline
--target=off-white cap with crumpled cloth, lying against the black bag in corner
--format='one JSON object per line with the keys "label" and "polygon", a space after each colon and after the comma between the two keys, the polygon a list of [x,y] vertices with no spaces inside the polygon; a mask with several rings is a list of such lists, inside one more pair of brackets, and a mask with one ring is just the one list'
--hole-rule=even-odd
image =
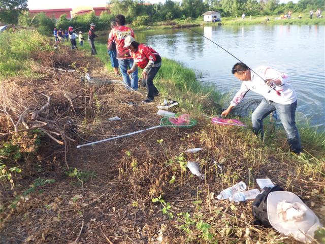
{"label": "off-white cap with crumpled cloth, lying against the black bag in corner", "polygon": [[267,213],[274,229],[303,243],[313,242],[314,232],[322,227],[314,212],[292,192],[271,192]]}

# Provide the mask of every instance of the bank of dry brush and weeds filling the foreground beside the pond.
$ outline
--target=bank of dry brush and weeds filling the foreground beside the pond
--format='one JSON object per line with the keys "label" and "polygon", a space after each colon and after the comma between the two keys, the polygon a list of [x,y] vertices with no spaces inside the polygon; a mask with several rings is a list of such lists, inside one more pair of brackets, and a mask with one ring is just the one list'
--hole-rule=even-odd
{"label": "bank of dry brush and weeds filling the foreground beside the pond", "polygon": [[[161,96],[151,104],[141,103],[144,89],[87,84],[80,79],[86,72],[94,79],[121,79],[111,74],[106,45],[96,43],[96,48],[97,56],[90,55],[88,43],[78,50],[60,46],[52,55],[40,51],[32,58],[39,66],[29,67],[30,78],[10,75],[3,80],[5,101],[16,101],[7,104],[8,114],[0,110],[3,242],[297,243],[254,225],[252,201],[216,199],[222,189],[241,180],[249,190],[258,188],[255,179],[265,177],[301,195],[325,220],[324,134],[302,135],[307,151],[297,157],[288,153],[285,136],[274,124],[267,126],[267,143],[249,129],[212,125],[200,114],[220,112],[214,102],[221,103],[222,97],[203,87],[192,70],[169,59],[163,59],[154,80]],[[51,100],[40,111],[48,101],[42,94]],[[156,105],[165,98],[179,101],[172,111],[189,113],[198,124],[76,148],[159,125]],[[3,101],[1,97],[0,105]],[[38,123],[48,134],[13,133],[9,117],[18,121],[26,107],[30,112],[22,116],[24,123]],[[37,111],[39,122],[32,118]],[[108,121],[113,116],[121,120]],[[18,129],[25,126],[21,123]],[[27,150],[34,144],[37,150]],[[194,147],[203,150],[185,153]],[[193,175],[187,161],[198,162],[205,177]]]}

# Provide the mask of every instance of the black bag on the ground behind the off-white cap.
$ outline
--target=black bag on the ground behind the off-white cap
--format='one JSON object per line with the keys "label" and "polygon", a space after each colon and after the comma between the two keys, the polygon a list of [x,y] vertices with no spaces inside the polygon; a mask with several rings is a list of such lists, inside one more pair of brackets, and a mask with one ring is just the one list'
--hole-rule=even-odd
{"label": "black bag on the ground behind the off-white cap", "polygon": [[278,185],[274,187],[265,187],[261,194],[257,195],[252,205],[252,215],[254,218],[254,225],[262,225],[266,228],[271,228],[268,219],[267,199],[270,192],[284,191]]}

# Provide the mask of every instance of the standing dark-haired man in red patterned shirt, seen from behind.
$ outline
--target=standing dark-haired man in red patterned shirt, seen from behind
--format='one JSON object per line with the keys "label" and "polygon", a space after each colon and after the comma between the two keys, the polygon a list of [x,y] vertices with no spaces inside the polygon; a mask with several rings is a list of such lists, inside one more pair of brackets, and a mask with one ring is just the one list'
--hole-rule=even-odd
{"label": "standing dark-haired man in red patterned shirt, seen from behind", "polygon": [[133,66],[133,58],[131,57],[128,49],[124,47],[124,40],[128,36],[134,37],[133,29],[125,26],[125,17],[121,14],[115,17],[117,27],[112,29],[112,35],[110,36],[108,42],[115,42],[116,44],[116,54],[118,64],[121,70],[123,81],[126,84],[127,88],[132,88],[134,90],[138,89],[138,70],[135,70],[132,73],[132,79],[130,79],[127,74],[127,69]]}

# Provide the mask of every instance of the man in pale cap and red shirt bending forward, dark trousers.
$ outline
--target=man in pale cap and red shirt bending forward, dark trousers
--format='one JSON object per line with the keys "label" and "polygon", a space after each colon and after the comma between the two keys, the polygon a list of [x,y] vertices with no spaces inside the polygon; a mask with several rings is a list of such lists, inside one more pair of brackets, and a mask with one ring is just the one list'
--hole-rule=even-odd
{"label": "man in pale cap and red shirt bending forward, dark trousers", "polygon": [[147,99],[143,103],[151,103],[155,96],[159,96],[158,89],[153,84],[153,79],[161,67],[161,57],[159,53],[144,44],[136,42],[136,40],[129,36],[124,40],[124,47],[128,48],[134,63],[130,70],[131,74],[138,70],[138,67],[143,69],[141,83],[147,87]]}

